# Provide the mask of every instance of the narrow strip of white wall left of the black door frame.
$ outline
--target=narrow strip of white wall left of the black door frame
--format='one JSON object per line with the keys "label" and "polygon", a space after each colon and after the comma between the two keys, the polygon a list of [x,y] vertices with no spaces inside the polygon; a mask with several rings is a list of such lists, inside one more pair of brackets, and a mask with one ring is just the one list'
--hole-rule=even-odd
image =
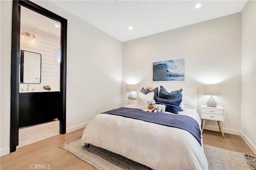
{"label": "narrow strip of white wall left of the black door frame", "polygon": [[[1,111],[0,154],[10,152],[10,86],[11,86],[11,34],[12,1],[0,1],[0,64],[1,64]],[[4,27],[3,27],[4,25]]]}

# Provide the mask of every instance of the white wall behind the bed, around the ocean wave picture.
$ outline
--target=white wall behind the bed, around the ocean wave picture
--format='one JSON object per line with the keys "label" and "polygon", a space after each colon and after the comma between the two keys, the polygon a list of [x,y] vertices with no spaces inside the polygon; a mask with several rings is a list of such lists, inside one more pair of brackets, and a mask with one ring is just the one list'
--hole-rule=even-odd
{"label": "white wall behind the bed, around the ocean wave picture", "polygon": [[[185,82],[152,82],[152,62],[185,59]],[[123,43],[123,100],[126,84],[142,87],[197,89],[198,112],[210,96],[202,95],[204,84],[219,84],[214,96],[225,109],[224,132],[240,134],[241,118],[241,13],[178,28]],[[216,121],[206,129],[218,130]]]}

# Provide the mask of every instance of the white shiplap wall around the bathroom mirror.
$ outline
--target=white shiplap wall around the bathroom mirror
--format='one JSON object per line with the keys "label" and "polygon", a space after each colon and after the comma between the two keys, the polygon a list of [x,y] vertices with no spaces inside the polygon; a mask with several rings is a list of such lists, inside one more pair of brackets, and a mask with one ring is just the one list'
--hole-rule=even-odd
{"label": "white shiplap wall around the bathroom mirror", "polygon": [[[42,91],[44,85],[50,85],[51,91],[60,91],[60,64],[57,62],[57,52],[60,47],[60,37],[32,29],[27,26],[20,26],[20,35],[22,32],[34,34],[36,42],[32,43],[29,38],[27,40],[20,39],[20,49],[40,53],[42,55],[41,65],[41,83],[20,83],[20,91],[27,91],[30,84],[30,91]],[[32,40],[32,36],[30,36]]]}

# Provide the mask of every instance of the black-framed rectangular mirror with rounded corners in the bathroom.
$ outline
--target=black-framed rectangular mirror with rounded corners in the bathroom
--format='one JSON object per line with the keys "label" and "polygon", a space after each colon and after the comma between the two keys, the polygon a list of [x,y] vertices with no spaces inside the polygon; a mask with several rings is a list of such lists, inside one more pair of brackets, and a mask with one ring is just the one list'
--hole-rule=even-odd
{"label": "black-framed rectangular mirror with rounded corners in the bathroom", "polygon": [[42,55],[20,50],[20,83],[41,83]]}

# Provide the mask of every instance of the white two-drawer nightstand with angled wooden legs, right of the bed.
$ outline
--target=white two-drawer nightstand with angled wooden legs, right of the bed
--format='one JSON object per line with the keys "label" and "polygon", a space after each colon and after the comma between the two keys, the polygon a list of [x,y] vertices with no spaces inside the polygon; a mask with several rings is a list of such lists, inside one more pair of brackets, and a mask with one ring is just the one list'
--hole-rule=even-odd
{"label": "white two-drawer nightstand with angled wooden legs, right of the bed", "polygon": [[224,121],[223,107],[208,107],[206,105],[201,105],[201,119],[203,119],[202,132],[204,130],[205,119],[217,121],[222,137],[225,138],[221,125],[221,121]]}

